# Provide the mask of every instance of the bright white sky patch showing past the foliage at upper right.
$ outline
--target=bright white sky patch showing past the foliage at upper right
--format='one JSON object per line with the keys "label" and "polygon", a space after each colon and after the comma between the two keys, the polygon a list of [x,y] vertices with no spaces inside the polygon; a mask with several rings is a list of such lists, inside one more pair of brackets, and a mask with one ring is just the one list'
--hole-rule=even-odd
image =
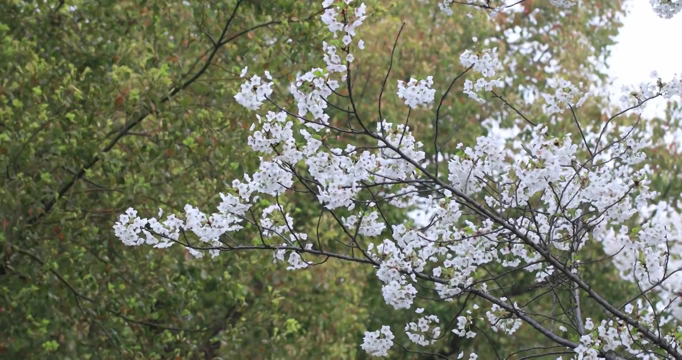
{"label": "bright white sky patch showing past the foliage at upper right", "polygon": [[[649,82],[653,70],[663,81],[682,74],[682,14],[659,18],[647,0],[629,0],[627,6],[629,11],[608,60],[607,74],[614,80],[612,93],[617,94],[622,85]],[[662,111],[662,106],[662,101],[649,104],[644,115]]]}

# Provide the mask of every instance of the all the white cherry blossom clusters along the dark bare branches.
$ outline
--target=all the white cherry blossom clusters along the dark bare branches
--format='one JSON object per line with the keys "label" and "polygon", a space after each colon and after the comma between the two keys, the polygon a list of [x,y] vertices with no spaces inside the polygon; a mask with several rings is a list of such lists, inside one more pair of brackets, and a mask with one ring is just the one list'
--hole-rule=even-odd
{"label": "all the white cherry blossom clusters along the dark bare branches", "polygon": [[[443,0],[439,7],[451,13],[453,3]],[[561,0],[550,3],[574,5]],[[678,2],[651,3],[666,17],[679,11]],[[255,172],[235,179],[226,194],[220,194],[218,211],[207,214],[186,205],[183,214],[166,215],[162,220],[162,210],[157,218],[141,218],[128,209],[114,226],[125,245],[168,248],[177,243],[197,258],[250,246],[271,250],[273,261],[285,262],[291,270],[313,266],[308,256],[351,258],[325,252],[314,245],[318,239],[309,241],[312,234],[297,230],[284,194],[298,184],[338,220],[352,243],[349,246],[359,250],[359,259],[374,266],[383,284],[383,298],[396,310],[412,308],[419,291],[425,291],[420,282],[427,281],[443,301],[469,293],[489,302],[485,318],[483,310],[477,311],[479,305],[473,305],[456,316],[451,328],[443,327],[434,315],[406,324],[406,338],[415,344],[434,344],[445,331],[474,338],[480,321],[506,335],[531,323],[548,338],[560,338],[561,346],[570,348],[575,359],[602,359],[613,350],[659,359],[648,353],[651,344],[682,357],[676,350],[680,346],[677,334],[682,331],[676,323],[682,319],[682,272],[677,272],[682,260],[672,256],[682,253],[682,213],[679,204],[655,200],[659,194],[651,190],[652,169],[641,165],[646,150],[653,146],[647,132],[638,130],[638,124],[610,124],[609,120],[581,128],[580,136],[553,134],[544,124],[519,121],[511,133],[522,137],[505,138],[491,131],[476,138],[473,146],[459,144],[456,153],[443,154],[447,170],[436,170],[437,175],[430,172],[424,144],[404,123],[377,119],[376,127],[370,128],[357,116],[362,130],[355,126],[345,132],[364,135],[362,145],[331,147],[325,138],[338,128],[331,124],[327,108],[348,80],[355,59],[351,44],[367,16],[364,3],[353,7],[352,0],[325,0],[322,5],[323,23],[332,37],[342,34],[343,45],[338,40],[337,45],[324,42],[321,61],[326,65],[299,74],[288,85],[298,121],[282,108],[254,115],[248,145],[261,162]],[[362,40],[356,43],[364,48]],[[466,50],[460,63],[466,68],[464,73],[472,70],[480,76],[464,80],[460,89],[474,100],[483,102],[480,91],[503,86],[500,78],[494,78],[501,69],[496,48]],[[241,76],[247,77],[247,72],[245,67]],[[624,89],[623,106],[641,107],[652,97],[670,99],[682,93],[678,78],[663,82],[653,76],[653,82]],[[264,78],[248,77],[235,100],[249,110],[261,110],[273,92],[271,80],[268,72]],[[397,95],[409,108],[428,106],[435,97],[432,85],[432,76],[398,81]],[[587,93],[580,90],[582,83],[576,87],[561,79],[550,85],[556,91],[544,95],[547,115],[577,110],[587,99]],[[580,139],[577,143],[576,138]],[[420,187],[429,192],[420,194]],[[373,188],[381,190],[373,192]],[[416,228],[384,218],[382,207],[405,209],[416,204],[428,209],[428,225]],[[258,230],[257,246],[240,245],[230,237],[229,233],[245,226]],[[582,319],[576,312],[575,329],[559,325],[562,333],[575,331],[576,342],[544,328],[524,305],[495,297],[496,278],[481,280],[480,274],[488,272],[489,265],[499,265],[510,273],[528,273],[535,286],[563,278],[575,291],[593,291],[580,278],[584,263],[576,255],[588,243],[604,249],[623,279],[653,289],[657,299],[633,299],[621,310],[599,303],[598,294],[589,293],[604,306],[607,316]],[[559,256],[567,260],[559,261]],[[418,314],[423,311],[417,309]],[[366,332],[361,348],[372,356],[387,356],[394,339],[391,329],[383,326]],[[464,353],[458,359],[462,357]],[[469,359],[476,358],[475,353],[469,355]]]}

